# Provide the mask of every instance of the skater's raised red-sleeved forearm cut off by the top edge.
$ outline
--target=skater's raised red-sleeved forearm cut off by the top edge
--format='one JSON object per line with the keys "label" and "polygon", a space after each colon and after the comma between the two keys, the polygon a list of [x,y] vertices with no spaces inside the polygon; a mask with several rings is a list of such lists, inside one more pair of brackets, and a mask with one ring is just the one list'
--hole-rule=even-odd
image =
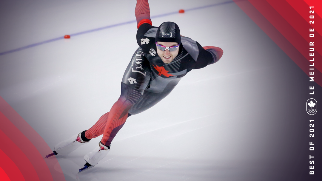
{"label": "skater's raised red-sleeved forearm cut off by the top edge", "polygon": [[135,17],[137,18],[137,29],[139,29],[139,27],[144,23],[152,25],[150,7],[147,0],[137,0],[137,5],[135,6]]}

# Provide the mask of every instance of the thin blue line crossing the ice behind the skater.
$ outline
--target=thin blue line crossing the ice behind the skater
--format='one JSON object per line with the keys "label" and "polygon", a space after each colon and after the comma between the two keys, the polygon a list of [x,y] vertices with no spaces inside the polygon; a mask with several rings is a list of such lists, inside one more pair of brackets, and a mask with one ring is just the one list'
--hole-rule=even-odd
{"label": "thin blue line crossing the ice behind the skater", "polygon": [[[241,1],[243,1],[243,0],[241,0]],[[227,1],[227,2],[217,3],[217,4],[213,4],[213,5],[206,5],[206,6],[201,6],[201,7],[190,8],[190,9],[186,9],[185,12],[198,10],[198,9],[204,9],[204,8],[213,7],[213,6],[225,5],[225,4],[229,4],[229,3],[234,3],[234,2],[233,1]],[[151,19],[158,18],[158,17],[164,17],[164,16],[168,16],[168,15],[171,15],[171,14],[179,14],[179,11],[166,13],[166,14],[160,14],[160,15],[156,15],[156,16],[151,16]],[[84,31],[84,32],[73,33],[73,34],[70,34],[70,36],[72,37],[72,36],[77,36],[77,35],[86,34],[86,33],[90,33],[90,32],[96,32],[96,31],[100,31],[100,30],[104,30],[104,29],[108,29],[108,28],[113,28],[113,27],[116,27],[116,26],[122,26],[122,25],[125,25],[125,24],[136,23],[136,22],[137,22],[136,20],[133,20],[133,21],[123,22],[123,23],[118,23],[118,24],[112,24],[112,25],[109,25],[109,26],[104,26],[104,27],[101,27],[101,28],[87,30],[87,31]],[[32,48],[32,47],[42,45],[42,44],[45,44],[45,43],[50,43],[50,42],[53,42],[53,41],[62,40],[62,39],[64,39],[63,36],[58,37],[58,38],[54,38],[54,39],[50,39],[50,40],[46,40],[46,41],[42,41],[42,42],[39,42],[39,43],[34,43],[34,44],[27,45],[27,46],[24,46],[24,47],[20,47],[20,48],[14,49],[14,50],[1,52],[0,56],[8,54],[8,53],[13,53],[13,52],[16,52],[16,51]]]}

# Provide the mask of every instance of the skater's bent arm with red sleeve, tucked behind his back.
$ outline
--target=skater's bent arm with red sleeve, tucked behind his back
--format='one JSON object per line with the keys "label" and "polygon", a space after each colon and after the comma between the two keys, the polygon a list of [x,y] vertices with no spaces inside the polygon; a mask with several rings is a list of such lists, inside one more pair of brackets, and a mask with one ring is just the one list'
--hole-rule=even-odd
{"label": "skater's bent arm with red sleeve, tucked behind his back", "polygon": [[216,63],[223,56],[223,50],[221,48],[213,46],[201,47],[198,42],[197,45],[199,49],[199,55],[194,69],[204,68],[207,65]]}

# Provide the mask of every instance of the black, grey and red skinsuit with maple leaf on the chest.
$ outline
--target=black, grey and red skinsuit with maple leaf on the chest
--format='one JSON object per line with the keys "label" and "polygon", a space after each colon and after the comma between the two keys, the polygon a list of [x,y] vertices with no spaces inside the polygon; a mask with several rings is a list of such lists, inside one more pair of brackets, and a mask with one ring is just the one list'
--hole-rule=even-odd
{"label": "black, grey and red skinsuit with maple leaf on the chest", "polygon": [[121,96],[110,112],[82,132],[84,141],[104,134],[101,143],[109,146],[128,116],[149,109],[165,98],[189,71],[213,64],[223,55],[221,48],[202,47],[198,42],[181,36],[178,55],[165,64],[156,53],[158,27],[152,26],[147,0],[137,0],[135,15],[139,48],[125,70]]}

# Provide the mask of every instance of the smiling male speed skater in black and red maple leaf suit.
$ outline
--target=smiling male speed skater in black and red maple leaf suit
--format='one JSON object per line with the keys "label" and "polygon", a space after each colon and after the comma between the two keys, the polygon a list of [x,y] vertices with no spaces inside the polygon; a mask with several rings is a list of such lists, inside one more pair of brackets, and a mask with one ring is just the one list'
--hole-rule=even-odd
{"label": "smiling male speed skater in black and red maple leaf suit", "polygon": [[125,70],[118,101],[89,130],[58,143],[48,157],[69,154],[103,134],[99,147],[84,156],[86,164],[80,171],[95,166],[106,156],[111,141],[129,116],[157,104],[189,71],[213,64],[223,55],[221,48],[202,47],[181,36],[179,27],[173,22],[152,26],[147,0],[137,0],[135,15],[139,48]]}

